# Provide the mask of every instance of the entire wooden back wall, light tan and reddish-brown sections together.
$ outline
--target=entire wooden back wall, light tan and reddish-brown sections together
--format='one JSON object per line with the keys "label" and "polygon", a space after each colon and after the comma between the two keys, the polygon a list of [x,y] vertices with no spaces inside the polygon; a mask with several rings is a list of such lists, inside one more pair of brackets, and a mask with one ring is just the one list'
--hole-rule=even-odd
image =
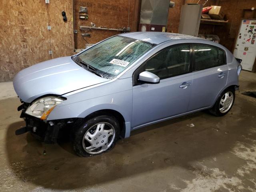
{"label": "entire wooden back wall, light tan and reddish-brown sections together", "polygon": [[[0,82],[10,81],[14,75],[33,64],[51,58],[72,55],[74,48],[84,48],[86,41],[96,43],[120,31],[80,31],[80,26],[108,28],[130,27],[136,31],[139,22],[141,0],[2,0],[0,6]],[[169,10],[167,32],[178,32],[181,6],[198,0],[174,0]],[[201,1],[202,3],[204,1]],[[256,7],[256,0],[209,0],[205,6],[219,4],[226,13],[228,24],[224,26],[200,25],[200,34],[216,34],[221,44],[232,50],[239,30],[243,9]],[[87,6],[88,20],[79,19],[80,6]],[[130,7],[130,9],[129,9]],[[66,12],[68,22],[63,22],[61,12]],[[128,19],[129,14],[129,19]],[[128,24],[129,22],[129,24]],[[47,30],[50,24],[52,30]],[[73,34],[74,29],[78,34]],[[53,54],[48,53],[49,50]]]}

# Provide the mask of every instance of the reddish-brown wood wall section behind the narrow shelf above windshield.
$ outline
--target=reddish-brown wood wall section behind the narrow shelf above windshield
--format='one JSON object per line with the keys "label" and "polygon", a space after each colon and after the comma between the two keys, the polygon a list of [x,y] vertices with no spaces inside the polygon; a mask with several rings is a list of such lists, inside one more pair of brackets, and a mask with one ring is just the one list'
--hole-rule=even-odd
{"label": "reddish-brown wood wall section behind the narrow shelf above windshield", "polygon": [[[75,29],[78,30],[78,34],[74,35],[75,48],[85,48],[87,42],[84,39],[90,44],[94,44],[110,36],[120,34],[120,31],[97,29],[80,31],[80,26],[90,26],[90,23],[93,22],[98,27],[127,28],[129,2],[129,26],[131,30],[134,30],[133,28],[136,26],[133,23],[134,9],[136,6],[135,2],[138,3],[138,0],[74,0],[74,24]],[[79,19],[80,6],[86,6],[88,8],[88,20]],[[83,38],[81,33],[90,33],[91,36]]]}

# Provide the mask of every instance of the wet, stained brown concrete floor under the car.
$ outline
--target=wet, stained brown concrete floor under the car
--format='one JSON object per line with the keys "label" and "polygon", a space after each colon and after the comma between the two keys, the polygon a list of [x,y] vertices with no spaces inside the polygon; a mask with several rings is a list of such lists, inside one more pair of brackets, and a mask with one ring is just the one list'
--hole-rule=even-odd
{"label": "wet, stained brown concrete floor under the car", "polygon": [[74,155],[69,143],[16,136],[20,102],[10,83],[0,90],[0,191],[256,191],[256,99],[241,94],[256,91],[256,74],[242,71],[226,116],[197,112],[148,126],[92,158]]}

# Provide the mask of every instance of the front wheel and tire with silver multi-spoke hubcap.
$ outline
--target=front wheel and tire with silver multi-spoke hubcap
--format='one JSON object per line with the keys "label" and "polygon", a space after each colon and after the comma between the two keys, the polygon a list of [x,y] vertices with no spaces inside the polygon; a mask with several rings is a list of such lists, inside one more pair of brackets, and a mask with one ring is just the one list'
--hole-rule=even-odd
{"label": "front wheel and tire with silver multi-spoke hubcap", "polygon": [[113,116],[100,115],[78,120],[71,142],[78,156],[90,157],[111,150],[119,138],[120,127]]}

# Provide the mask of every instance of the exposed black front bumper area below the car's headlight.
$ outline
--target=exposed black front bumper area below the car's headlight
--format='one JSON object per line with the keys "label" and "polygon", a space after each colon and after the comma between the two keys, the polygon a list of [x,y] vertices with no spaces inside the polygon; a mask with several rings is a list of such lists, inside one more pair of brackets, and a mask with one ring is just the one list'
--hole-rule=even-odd
{"label": "exposed black front bumper area below the car's headlight", "polygon": [[70,134],[70,130],[76,118],[58,119],[58,120],[41,120],[25,113],[29,103],[21,100],[22,105],[18,107],[21,111],[20,118],[24,118],[26,127],[16,130],[16,135],[20,135],[30,131],[38,140],[48,144],[54,144],[58,138],[65,137]]}

